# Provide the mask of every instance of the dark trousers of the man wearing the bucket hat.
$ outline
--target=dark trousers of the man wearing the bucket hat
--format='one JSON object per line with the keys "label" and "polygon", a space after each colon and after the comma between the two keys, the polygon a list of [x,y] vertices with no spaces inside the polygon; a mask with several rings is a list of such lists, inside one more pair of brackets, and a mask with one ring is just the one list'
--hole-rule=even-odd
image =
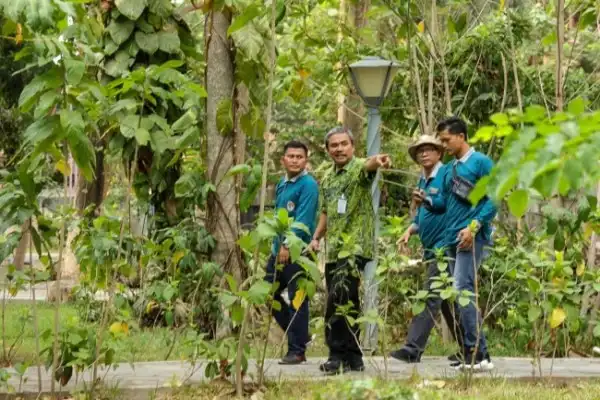
{"label": "dark trousers of the man wearing the bucket hat", "polygon": [[[427,268],[427,284],[425,290],[431,290],[431,284],[434,281],[433,278],[439,275],[440,271],[437,266],[437,262],[434,256],[426,255],[423,260],[426,263]],[[435,326],[435,320],[440,312],[448,324],[448,328],[452,334],[454,340],[459,344],[462,349],[462,329],[458,323],[458,315],[454,315],[454,305],[447,300],[442,300],[439,294],[435,293],[433,297],[429,297],[425,303],[425,309],[420,314],[415,315],[408,327],[408,335],[406,337],[406,344],[404,348],[408,350],[413,356],[421,357],[425,351],[427,340],[431,330]]]}

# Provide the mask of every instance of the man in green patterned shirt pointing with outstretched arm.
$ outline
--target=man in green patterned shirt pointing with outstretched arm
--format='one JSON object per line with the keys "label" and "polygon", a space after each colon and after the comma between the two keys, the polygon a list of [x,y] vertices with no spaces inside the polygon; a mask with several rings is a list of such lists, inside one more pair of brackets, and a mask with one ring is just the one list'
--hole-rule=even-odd
{"label": "man in green patterned shirt pointing with outstretched arm", "polygon": [[[345,315],[358,318],[360,273],[375,254],[371,188],[377,170],[388,168],[390,158],[386,154],[354,157],[354,138],[344,128],[329,131],[325,147],[333,163],[321,180],[321,215],[310,248],[318,250],[319,240],[325,236],[325,339],[329,359],[320,369],[335,374],[364,370],[359,326],[351,326]],[[339,314],[340,306],[345,315]]]}

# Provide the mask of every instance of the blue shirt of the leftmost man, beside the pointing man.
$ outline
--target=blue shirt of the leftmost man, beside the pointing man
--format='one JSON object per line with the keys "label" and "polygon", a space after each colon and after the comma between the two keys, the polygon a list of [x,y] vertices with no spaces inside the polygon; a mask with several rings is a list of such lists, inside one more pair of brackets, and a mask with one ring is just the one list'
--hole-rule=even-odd
{"label": "blue shirt of the leftmost man, beside the pointing man", "polygon": [[[275,196],[276,210],[284,208],[290,218],[306,225],[309,233],[298,228],[293,231],[304,243],[309,243],[316,229],[319,209],[319,185],[315,178],[306,171],[292,179],[284,176],[275,188]],[[278,237],[273,241],[273,254],[279,253],[281,240]]]}

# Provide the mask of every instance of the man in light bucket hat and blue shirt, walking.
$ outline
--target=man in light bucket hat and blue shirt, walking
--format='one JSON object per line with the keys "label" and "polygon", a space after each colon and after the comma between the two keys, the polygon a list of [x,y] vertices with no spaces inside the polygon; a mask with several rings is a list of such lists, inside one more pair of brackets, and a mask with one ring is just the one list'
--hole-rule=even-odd
{"label": "man in light bucket hat and blue shirt, walking", "polygon": [[[408,154],[423,168],[423,171],[417,189],[413,193],[413,204],[417,206],[416,215],[413,223],[398,241],[400,249],[412,235],[419,235],[424,249],[423,262],[427,271],[426,290],[428,291],[432,290],[432,283],[439,275],[436,251],[444,247],[445,238],[446,215],[443,211],[436,212],[433,209],[434,204],[443,201],[445,166],[440,161],[442,153],[441,142],[430,135],[421,136],[408,148]],[[441,206],[438,205],[438,208]],[[432,293],[427,299],[425,309],[411,321],[404,346],[391,353],[393,358],[407,363],[418,363],[421,360],[440,308],[452,335],[459,342],[461,341],[452,305],[442,300],[439,294]]]}

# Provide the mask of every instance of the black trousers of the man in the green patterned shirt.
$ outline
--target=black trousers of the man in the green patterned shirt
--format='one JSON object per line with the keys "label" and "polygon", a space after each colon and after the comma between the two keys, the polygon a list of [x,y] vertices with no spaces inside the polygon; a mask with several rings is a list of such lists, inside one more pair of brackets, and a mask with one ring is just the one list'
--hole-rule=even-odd
{"label": "black trousers of the man in the green patterned shirt", "polygon": [[325,264],[325,340],[330,359],[345,361],[362,358],[360,326],[350,325],[346,316],[354,319],[359,316],[361,273],[368,261],[356,256]]}

